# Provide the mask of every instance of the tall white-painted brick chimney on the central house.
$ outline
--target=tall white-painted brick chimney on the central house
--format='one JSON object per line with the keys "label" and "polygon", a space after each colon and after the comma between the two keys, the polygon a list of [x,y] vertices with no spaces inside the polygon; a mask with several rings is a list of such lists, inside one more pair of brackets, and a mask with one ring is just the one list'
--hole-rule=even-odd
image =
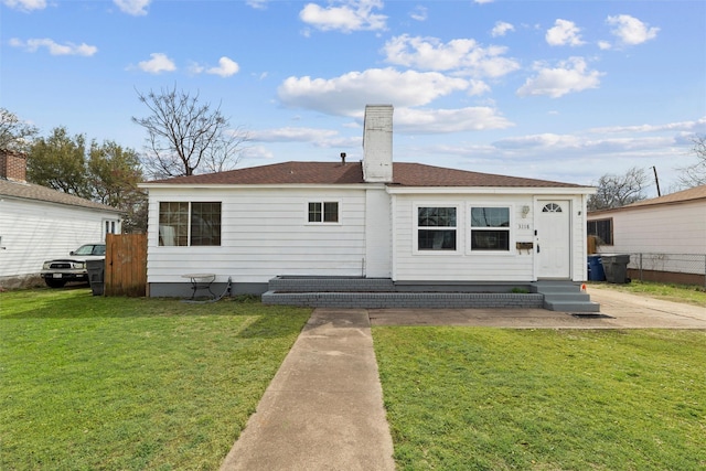
{"label": "tall white-painted brick chimney on the central house", "polygon": [[363,180],[393,181],[393,106],[365,106],[363,124]]}

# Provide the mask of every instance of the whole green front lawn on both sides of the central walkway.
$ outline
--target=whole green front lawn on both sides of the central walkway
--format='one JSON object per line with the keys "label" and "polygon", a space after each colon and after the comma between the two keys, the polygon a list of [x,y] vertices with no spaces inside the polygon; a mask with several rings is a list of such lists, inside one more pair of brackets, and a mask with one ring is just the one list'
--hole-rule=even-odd
{"label": "whole green front lawn on both sides of the central walkway", "polygon": [[[0,469],[217,469],[310,310],[0,293]],[[399,470],[706,468],[706,332],[374,328]]]}

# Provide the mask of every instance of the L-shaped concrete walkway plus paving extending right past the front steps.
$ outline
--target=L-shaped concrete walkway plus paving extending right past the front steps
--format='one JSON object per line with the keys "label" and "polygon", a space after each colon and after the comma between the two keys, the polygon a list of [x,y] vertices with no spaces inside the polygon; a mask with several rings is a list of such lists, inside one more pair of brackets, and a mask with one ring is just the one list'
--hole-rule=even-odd
{"label": "L-shaped concrete walkway plus paving extending right past the front steps", "polygon": [[394,470],[375,325],[706,329],[706,308],[589,287],[602,318],[544,309],[315,309],[222,471]]}

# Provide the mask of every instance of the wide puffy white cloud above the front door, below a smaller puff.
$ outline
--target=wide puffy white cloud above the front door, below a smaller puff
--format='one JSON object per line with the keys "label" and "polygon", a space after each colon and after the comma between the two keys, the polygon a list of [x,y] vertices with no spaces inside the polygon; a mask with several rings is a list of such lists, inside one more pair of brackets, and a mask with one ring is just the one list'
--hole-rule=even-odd
{"label": "wide puffy white cloud above the front door, below a smaller puff", "polygon": [[598,71],[589,71],[586,61],[581,57],[563,61],[555,68],[536,64],[535,69],[537,75],[527,78],[517,89],[518,96],[548,95],[552,98],[558,98],[568,93],[597,88],[600,84],[599,77],[603,75]]}

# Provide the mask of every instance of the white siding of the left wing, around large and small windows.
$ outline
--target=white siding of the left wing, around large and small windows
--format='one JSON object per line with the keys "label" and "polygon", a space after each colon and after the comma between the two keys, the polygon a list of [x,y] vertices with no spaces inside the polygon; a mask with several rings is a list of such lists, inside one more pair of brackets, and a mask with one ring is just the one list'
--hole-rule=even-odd
{"label": "white siding of the left wing, around large and small windows", "polygon": [[[148,235],[148,282],[181,282],[188,272],[217,281],[266,282],[278,275],[362,276],[365,192],[297,189],[150,189],[150,221],[160,201],[221,201],[221,246],[160,247]],[[308,204],[338,201],[340,223],[308,223]]]}

